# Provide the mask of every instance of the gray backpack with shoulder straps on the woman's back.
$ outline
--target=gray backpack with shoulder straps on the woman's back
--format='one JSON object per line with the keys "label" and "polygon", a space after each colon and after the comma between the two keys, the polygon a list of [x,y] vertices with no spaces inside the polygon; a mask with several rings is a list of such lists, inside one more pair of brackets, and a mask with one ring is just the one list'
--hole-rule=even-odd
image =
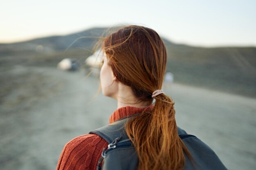
{"label": "gray backpack with shoulder straps on the woman's back", "polygon": [[[126,121],[126,118],[117,120],[112,124],[90,132],[99,135],[109,144],[108,148],[104,148],[101,153],[97,170],[137,169],[139,160],[136,150],[124,129]],[[214,151],[200,139],[194,135],[188,135],[186,131],[180,127],[178,127],[178,135],[189,149],[198,170],[227,170]],[[186,154],[185,157],[186,166],[184,170],[195,170]],[[101,167],[102,161],[103,164]]]}

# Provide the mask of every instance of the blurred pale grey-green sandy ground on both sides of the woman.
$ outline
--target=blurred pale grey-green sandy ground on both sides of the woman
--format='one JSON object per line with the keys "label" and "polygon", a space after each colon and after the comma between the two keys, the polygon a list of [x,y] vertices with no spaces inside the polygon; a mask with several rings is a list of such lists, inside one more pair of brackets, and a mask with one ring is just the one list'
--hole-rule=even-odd
{"label": "blurred pale grey-green sandy ground on both sides of the woman", "polygon": [[[115,100],[83,70],[15,65],[0,73],[0,169],[52,170],[72,138],[108,123]],[[256,167],[256,99],[165,84],[177,124],[209,145],[230,170]]]}

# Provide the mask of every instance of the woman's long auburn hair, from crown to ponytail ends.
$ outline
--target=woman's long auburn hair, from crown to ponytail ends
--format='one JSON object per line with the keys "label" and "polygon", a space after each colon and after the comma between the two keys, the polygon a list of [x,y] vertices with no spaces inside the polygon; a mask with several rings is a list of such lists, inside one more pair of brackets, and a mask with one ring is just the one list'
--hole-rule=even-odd
{"label": "woman's long auburn hair, from crown to ponytail ends", "polygon": [[[167,53],[153,29],[129,25],[103,39],[101,49],[117,80],[132,88],[139,101],[152,105],[152,93],[161,89]],[[139,158],[138,170],[182,170],[184,153],[193,159],[177,133],[173,100],[155,97],[155,106],[130,119],[125,126]]]}

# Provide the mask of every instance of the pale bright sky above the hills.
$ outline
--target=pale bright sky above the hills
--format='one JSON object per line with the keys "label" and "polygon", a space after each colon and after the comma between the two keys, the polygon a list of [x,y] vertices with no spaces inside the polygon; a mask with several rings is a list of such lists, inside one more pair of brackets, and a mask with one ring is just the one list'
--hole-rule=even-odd
{"label": "pale bright sky above the hills", "polygon": [[256,0],[0,0],[0,43],[135,24],[191,46],[256,46]]}

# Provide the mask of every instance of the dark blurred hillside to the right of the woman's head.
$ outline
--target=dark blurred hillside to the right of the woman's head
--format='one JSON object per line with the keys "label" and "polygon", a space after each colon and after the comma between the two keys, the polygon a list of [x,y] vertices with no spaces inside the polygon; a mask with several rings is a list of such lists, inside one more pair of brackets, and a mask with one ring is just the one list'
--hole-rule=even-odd
{"label": "dark blurred hillside to the right of the woman's head", "polygon": [[167,46],[166,71],[175,81],[256,97],[255,47]]}

